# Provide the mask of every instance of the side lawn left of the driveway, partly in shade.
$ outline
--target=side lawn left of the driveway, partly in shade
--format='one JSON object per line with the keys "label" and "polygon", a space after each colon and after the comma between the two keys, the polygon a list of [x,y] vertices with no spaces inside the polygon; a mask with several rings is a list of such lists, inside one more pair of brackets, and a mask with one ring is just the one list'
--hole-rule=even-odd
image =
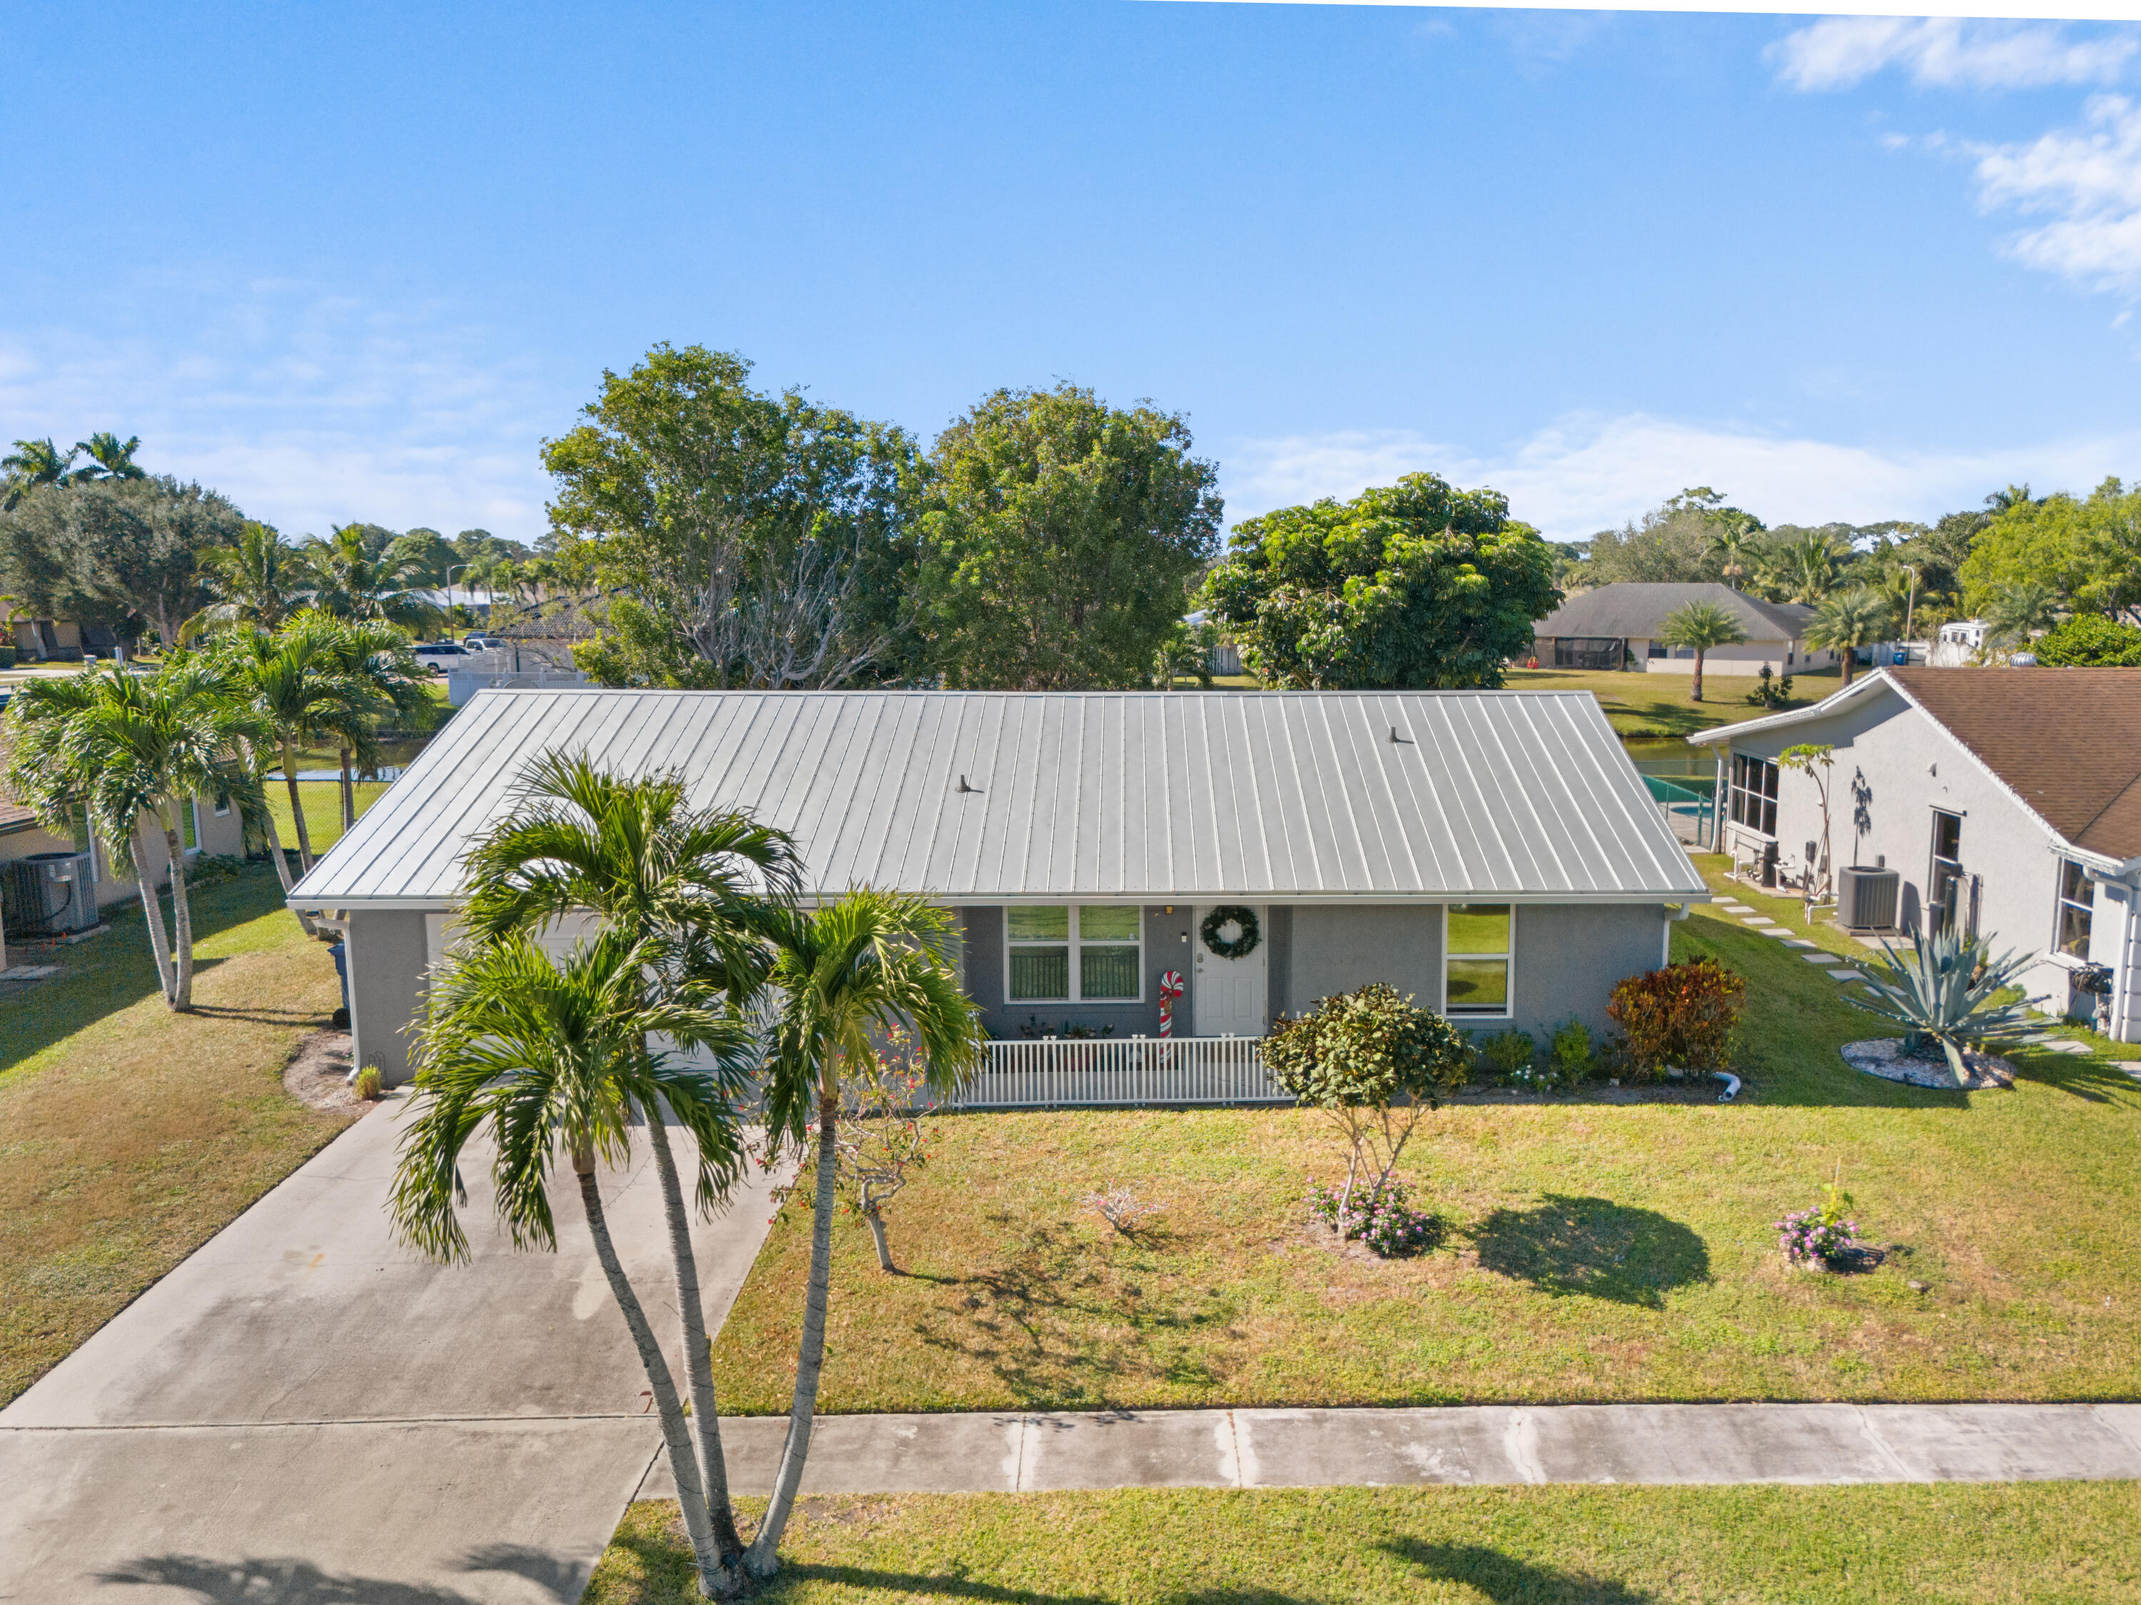
{"label": "side lawn left of the driveway, partly in shade", "polygon": [[283,1091],[340,995],[274,871],[193,912],[191,1014],[156,991],[139,903],[0,995],[0,1404],[347,1126]]}

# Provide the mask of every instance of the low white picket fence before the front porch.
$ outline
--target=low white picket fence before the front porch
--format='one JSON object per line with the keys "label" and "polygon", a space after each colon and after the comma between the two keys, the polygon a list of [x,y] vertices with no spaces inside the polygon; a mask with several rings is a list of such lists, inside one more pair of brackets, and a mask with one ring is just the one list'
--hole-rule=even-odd
{"label": "low white picket fence before the front porch", "polygon": [[981,1072],[946,1109],[1135,1109],[1291,1104],[1252,1036],[989,1042]]}

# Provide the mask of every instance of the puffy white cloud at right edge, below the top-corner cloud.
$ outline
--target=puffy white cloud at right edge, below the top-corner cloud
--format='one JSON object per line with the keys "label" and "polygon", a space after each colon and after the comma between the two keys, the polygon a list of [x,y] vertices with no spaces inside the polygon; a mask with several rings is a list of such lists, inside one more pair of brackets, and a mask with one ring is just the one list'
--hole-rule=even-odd
{"label": "puffy white cloud at right edge, below the top-corner cloud", "polygon": [[2013,235],[2008,255],[2092,289],[2141,285],[2141,107],[2100,94],[2079,128],[1974,154],[1980,205],[2053,214]]}

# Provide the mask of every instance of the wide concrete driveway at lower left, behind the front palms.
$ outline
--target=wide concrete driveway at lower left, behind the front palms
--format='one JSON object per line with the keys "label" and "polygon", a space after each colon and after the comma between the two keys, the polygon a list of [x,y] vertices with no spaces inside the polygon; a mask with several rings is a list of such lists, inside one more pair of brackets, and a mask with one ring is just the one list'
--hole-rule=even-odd
{"label": "wide concrete driveway at lower left, behind the front palms", "polygon": [[[475,1263],[428,1265],[383,1209],[405,1109],[343,1132],[0,1410],[0,1601],[580,1596],[659,1432],[578,1190],[555,1194],[559,1252],[516,1254],[477,1160]],[[674,1333],[644,1145],[602,1196]],[[709,1327],[769,1213],[754,1179],[698,1228]]]}

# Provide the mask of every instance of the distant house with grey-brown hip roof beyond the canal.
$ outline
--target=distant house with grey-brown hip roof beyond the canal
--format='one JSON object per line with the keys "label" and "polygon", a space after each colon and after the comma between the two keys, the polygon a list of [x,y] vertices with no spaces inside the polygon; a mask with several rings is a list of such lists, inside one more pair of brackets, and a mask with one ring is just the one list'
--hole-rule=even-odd
{"label": "distant house with grey-brown hip roof beyond the canal", "polygon": [[1539,668],[1694,674],[1696,648],[1666,646],[1657,638],[1666,618],[1689,601],[1717,603],[1747,631],[1745,642],[1702,655],[1706,674],[1760,674],[1764,663],[1773,674],[1794,674],[1837,661],[1835,653],[1807,651],[1813,608],[1796,601],[1762,601],[1728,584],[1623,582],[1569,597],[1531,627]]}

